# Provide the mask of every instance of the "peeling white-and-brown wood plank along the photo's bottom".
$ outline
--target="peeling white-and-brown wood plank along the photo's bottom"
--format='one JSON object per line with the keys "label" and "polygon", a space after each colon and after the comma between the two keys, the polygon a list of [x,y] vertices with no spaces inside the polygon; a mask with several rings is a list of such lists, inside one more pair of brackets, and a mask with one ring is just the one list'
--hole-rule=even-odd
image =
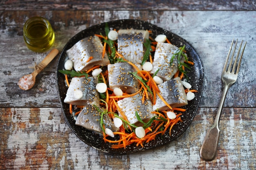
{"label": "peeling white-and-brown wood plank along the photo's bottom", "polygon": [[254,169],[255,108],[224,108],[217,157],[211,162],[200,159],[216,111],[200,108],[186,132],[166,146],[110,155],[81,142],[60,108],[1,108],[0,169]]}

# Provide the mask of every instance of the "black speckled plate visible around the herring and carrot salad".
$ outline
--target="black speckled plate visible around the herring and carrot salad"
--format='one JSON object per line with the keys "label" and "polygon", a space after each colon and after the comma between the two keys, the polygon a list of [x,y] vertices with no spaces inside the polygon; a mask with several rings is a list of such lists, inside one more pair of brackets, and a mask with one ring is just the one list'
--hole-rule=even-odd
{"label": "black speckled plate visible around the herring and carrot salad", "polygon": [[186,45],[186,53],[188,54],[189,60],[194,62],[194,66],[192,66],[191,71],[189,71],[189,83],[192,85],[193,89],[196,89],[198,93],[195,93],[195,99],[189,102],[187,106],[184,106],[186,112],[182,115],[182,123],[176,124],[173,126],[171,136],[168,135],[168,130],[166,131],[166,134],[161,137],[160,135],[156,137],[156,140],[150,141],[149,143],[145,143],[144,147],[141,146],[136,147],[135,145],[127,146],[127,148],[122,149],[112,149],[110,148],[111,144],[105,143],[102,139],[102,137],[90,130],[87,130],[81,126],[75,125],[75,120],[72,115],[69,113],[69,104],[65,104],[63,101],[66,96],[67,92],[67,86],[65,84],[65,77],[62,73],[59,73],[58,70],[64,69],[64,63],[67,60],[67,49],[70,49],[76,42],[79,40],[94,35],[94,34],[100,34],[102,33],[105,35],[105,24],[101,23],[98,25],[91,26],[78,34],[76,34],[74,37],[70,39],[69,42],[65,45],[63,48],[63,51],[61,52],[61,55],[58,59],[58,64],[56,67],[56,83],[58,88],[58,95],[61,101],[61,108],[63,110],[63,115],[65,117],[65,120],[68,124],[68,126],[71,128],[71,130],[74,132],[74,134],[79,137],[85,144],[88,144],[89,146],[92,146],[93,148],[96,148],[98,150],[101,150],[103,152],[109,152],[114,154],[126,154],[131,152],[138,152],[142,150],[148,150],[151,148],[155,148],[157,146],[163,146],[164,144],[168,144],[169,142],[175,140],[177,137],[182,135],[182,133],[189,127],[191,124],[191,121],[193,120],[200,103],[202,90],[204,86],[204,68],[202,61],[200,59],[200,56],[198,55],[197,51],[183,38],[179,37],[178,35],[171,33],[170,31],[167,31],[165,29],[159,28],[156,25],[150,24],[145,21],[140,20],[115,20],[108,22],[108,25],[110,28],[115,28],[117,30],[119,29],[142,29],[142,30],[150,30],[152,31],[151,37],[155,38],[156,35],[159,34],[165,34],[174,44],[175,46],[183,46]]}

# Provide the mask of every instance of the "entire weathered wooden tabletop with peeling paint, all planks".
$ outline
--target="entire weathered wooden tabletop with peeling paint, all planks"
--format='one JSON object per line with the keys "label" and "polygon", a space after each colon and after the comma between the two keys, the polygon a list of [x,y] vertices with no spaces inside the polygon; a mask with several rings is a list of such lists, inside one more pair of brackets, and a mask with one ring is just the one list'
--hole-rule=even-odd
{"label": "entire weathered wooden tabletop with peeling paint, all planks", "polygon": [[[22,26],[33,16],[49,20],[59,51],[89,26],[139,19],[190,42],[204,64],[204,90],[189,128],[165,146],[127,155],[98,151],[67,126],[58,99],[56,57],[22,91],[17,82],[49,51],[27,49]],[[199,151],[216,117],[222,93],[221,72],[231,40],[247,41],[237,82],[220,118],[220,141],[213,161]],[[250,0],[2,0],[0,1],[0,169],[27,170],[238,170],[256,167],[256,1]]]}

